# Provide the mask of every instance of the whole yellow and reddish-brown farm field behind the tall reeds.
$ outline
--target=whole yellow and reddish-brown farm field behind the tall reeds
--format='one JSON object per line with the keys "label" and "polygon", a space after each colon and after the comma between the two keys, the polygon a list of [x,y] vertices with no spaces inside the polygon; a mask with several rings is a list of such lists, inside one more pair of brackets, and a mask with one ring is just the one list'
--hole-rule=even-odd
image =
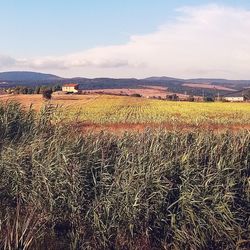
{"label": "whole yellow and reddish-brown farm field behind the tall reeds", "polygon": [[[2,96],[39,110],[45,102],[40,95]],[[169,102],[111,95],[58,95],[50,102],[58,105],[61,119],[83,130],[169,130],[250,129],[250,103]]]}

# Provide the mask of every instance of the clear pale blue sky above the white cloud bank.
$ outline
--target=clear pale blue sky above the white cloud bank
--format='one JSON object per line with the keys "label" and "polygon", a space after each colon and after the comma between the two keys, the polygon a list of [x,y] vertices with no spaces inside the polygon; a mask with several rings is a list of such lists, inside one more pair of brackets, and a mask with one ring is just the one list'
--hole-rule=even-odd
{"label": "clear pale blue sky above the white cloud bank", "polygon": [[[250,7],[250,1],[212,3]],[[2,0],[1,50],[16,56],[58,55],[126,42],[153,32],[187,0]]]}

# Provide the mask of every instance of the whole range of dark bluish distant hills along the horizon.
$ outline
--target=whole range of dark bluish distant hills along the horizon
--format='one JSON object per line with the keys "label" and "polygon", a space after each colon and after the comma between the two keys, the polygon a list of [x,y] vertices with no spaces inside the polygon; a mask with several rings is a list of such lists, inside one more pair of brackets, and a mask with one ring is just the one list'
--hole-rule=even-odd
{"label": "whole range of dark bluish distant hills along the horizon", "polygon": [[169,92],[196,96],[224,95],[233,90],[250,88],[250,80],[227,80],[213,78],[180,79],[173,77],[136,78],[62,78],[52,74],[28,71],[0,73],[0,88],[14,86],[62,85],[68,82],[78,83],[82,90],[100,89],[139,89],[158,86]]}

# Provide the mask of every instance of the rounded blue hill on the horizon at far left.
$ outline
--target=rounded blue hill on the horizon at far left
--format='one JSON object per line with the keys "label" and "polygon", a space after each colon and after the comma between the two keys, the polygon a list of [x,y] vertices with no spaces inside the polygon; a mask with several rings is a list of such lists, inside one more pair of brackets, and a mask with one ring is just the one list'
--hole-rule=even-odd
{"label": "rounded blue hill on the horizon at far left", "polygon": [[0,81],[53,81],[59,80],[61,77],[30,71],[10,71],[0,73]]}

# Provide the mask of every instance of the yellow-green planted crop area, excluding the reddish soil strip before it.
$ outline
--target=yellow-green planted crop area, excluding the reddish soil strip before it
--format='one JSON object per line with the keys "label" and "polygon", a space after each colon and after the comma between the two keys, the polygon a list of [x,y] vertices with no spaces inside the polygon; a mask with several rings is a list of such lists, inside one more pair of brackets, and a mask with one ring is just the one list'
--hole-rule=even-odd
{"label": "yellow-green planted crop area, excluding the reddish soil strip before it", "polygon": [[167,102],[132,97],[100,96],[83,106],[68,107],[67,115],[93,123],[250,124],[246,103]]}

